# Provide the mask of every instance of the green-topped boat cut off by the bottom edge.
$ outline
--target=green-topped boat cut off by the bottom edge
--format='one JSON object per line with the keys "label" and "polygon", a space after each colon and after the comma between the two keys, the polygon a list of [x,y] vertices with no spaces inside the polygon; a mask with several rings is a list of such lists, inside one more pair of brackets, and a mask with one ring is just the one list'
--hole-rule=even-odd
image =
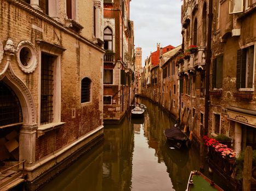
{"label": "green-topped boat cut off by the bottom edge", "polygon": [[187,189],[186,191],[193,191],[193,190],[222,190],[217,184],[215,184],[212,180],[208,177],[204,176],[199,171],[191,171],[189,176],[189,181],[187,182]]}

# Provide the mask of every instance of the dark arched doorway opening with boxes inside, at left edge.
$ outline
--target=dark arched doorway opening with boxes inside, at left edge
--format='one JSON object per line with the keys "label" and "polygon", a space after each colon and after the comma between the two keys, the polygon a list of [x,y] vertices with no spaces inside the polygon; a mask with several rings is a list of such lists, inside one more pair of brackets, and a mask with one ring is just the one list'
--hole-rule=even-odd
{"label": "dark arched doorway opening with boxes inside, at left edge", "polygon": [[22,110],[18,97],[5,82],[0,81],[0,161],[19,160],[19,134]]}

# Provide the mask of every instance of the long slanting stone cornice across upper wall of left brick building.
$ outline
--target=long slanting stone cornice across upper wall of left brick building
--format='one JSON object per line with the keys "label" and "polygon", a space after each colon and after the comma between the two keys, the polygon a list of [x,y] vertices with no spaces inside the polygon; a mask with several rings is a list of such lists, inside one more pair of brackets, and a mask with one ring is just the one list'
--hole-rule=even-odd
{"label": "long slanting stone cornice across upper wall of left brick building", "polygon": [[18,1],[18,0],[7,0],[7,1],[10,2],[11,4],[15,5],[16,7],[19,7],[21,9],[27,11],[31,15],[36,16],[39,19],[42,19],[43,21],[50,23],[54,27],[59,28],[61,31],[64,31],[64,32],[72,35],[73,37],[83,41],[83,43],[85,43],[89,46],[92,46],[94,49],[97,49],[97,50],[99,50],[100,52],[103,52],[103,53],[105,52],[99,46],[96,46],[95,44],[93,44],[92,41],[82,37],[81,35],[77,34],[75,31],[73,31],[72,29],[70,29],[68,27],[65,27],[64,25],[62,25],[62,23],[54,20],[52,17],[50,17],[48,15],[45,15],[41,11],[32,8],[30,4],[27,4],[25,2]]}

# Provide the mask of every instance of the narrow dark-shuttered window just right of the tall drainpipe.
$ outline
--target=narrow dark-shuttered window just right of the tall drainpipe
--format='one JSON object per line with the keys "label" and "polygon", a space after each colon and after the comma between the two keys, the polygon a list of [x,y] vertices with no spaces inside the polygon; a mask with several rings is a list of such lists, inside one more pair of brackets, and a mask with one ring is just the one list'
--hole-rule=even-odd
{"label": "narrow dark-shuttered window just right of the tall drainpipe", "polygon": [[213,59],[213,78],[212,78],[213,88],[222,87],[222,65],[223,65],[222,55]]}

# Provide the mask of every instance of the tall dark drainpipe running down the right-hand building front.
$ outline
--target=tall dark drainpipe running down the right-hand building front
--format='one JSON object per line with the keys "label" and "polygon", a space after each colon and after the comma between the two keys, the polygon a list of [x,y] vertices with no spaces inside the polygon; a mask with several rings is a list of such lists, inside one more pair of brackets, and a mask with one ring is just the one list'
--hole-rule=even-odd
{"label": "tall dark drainpipe running down the right-hand building front", "polygon": [[208,118],[209,118],[209,74],[210,74],[210,64],[211,64],[211,40],[212,40],[212,19],[213,19],[213,1],[209,0],[209,13],[208,13],[208,35],[207,35],[207,52],[206,52],[206,95],[204,98],[204,135],[208,135]]}

